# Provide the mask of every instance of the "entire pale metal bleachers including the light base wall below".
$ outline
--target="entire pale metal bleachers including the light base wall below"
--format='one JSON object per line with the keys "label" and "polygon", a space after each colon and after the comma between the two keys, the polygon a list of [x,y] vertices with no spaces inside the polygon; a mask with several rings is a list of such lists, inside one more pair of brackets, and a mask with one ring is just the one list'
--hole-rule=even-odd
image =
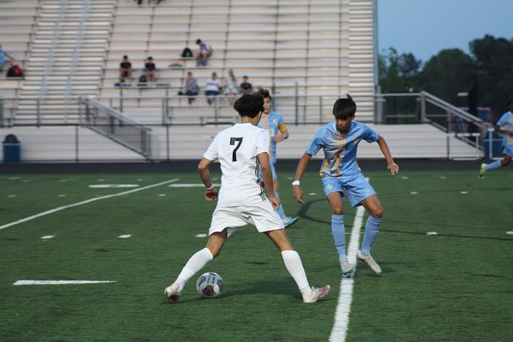
{"label": "entire pale metal bleachers including the light base wall below", "polygon": [[[218,96],[211,106],[202,95],[212,72],[223,81],[229,69],[237,83],[247,75],[254,88],[274,93],[275,108],[291,132],[279,157],[299,157],[318,123],[332,119],[333,102],[345,93],[358,104],[357,120],[373,121],[372,0],[144,2],[0,0],[0,43],[26,68],[25,80],[0,78],[3,122],[15,125],[1,133],[20,135],[25,150],[32,151],[25,160],[76,159],[76,126],[16,125],[80,123],[80,95],[94,95],[126,117],[151,125],[151,159],[197,158],[213,135],[237,120],[226,98]],[[214,48],[207,67],[180,58],[186,46],[197,51],[197,38]],[[115,83],[124,55],[133,63],[134,82],[119,88]],[[135,80],[148,56],[155,59],[157,83],[138,87]],[[177,96],[187,71],[202,87],[193,105]],[[430,125],[374,128],[388,138],[395,157],[447,157],[447,142],[452,157],[482,153]],[[78,131],[84,137],[79,150],[87,151],[78,159],[145,160],[92,130]],[[380,157],[373,147],[363,144],[360,156]]]}

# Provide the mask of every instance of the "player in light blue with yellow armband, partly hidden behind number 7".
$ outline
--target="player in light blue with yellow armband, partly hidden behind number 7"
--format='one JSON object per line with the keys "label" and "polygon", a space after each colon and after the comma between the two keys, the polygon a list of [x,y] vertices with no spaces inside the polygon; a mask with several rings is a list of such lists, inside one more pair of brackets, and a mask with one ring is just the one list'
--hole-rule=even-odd
{"label": "player in light blue with yellow armband, partly hidden behind number 7", "polygon": [[[271,171],[273,176],[274,195],[279,198],[278,176],[276,175],[276,144],[278,142],[282,142],[286,138],[289,138],[289,130],[287,130],[286,125],[283,123],[281,114],[276,112],[276,110],[271,109],[272,103],[269,90],[260,89],[258,93],[262,98],[264,98],[264,114],[260,120],[259,127],[264,128],[269,132],[269,138],[271,141],[271,155],[269,156],[269,159],[271,162]],[[299,219],[299,217],[286,216],[281,204],[278,209],[278,214],[281,217],[281,221],[284,222],[285,227],[289,227]]]}

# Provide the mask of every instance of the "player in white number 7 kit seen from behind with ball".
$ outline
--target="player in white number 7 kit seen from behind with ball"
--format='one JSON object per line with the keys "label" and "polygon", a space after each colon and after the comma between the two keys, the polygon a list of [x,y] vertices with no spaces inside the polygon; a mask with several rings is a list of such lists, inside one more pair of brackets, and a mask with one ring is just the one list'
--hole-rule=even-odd
{"label": "player in white number 7 kit seen from behind with ball", "polygon": [[[258,94],[242,95],[235,101],[234,108],[239,112],[241,122],[219,132],[199,162],[199,177],[206,187],[205,199],[210,202],[218,194],[210,178],[209,165],[219,160],[222,171],[219,199],[212,214],[207,247],[190,257],[175,282],[164,291],[170,303],[180,300],[187,281],[217,257],[224,242],[237,227],[246,224],[257,227],[279,249],[305,303],[318,301],[330,290],[329,285],[321,289],[309,285],[301,258],[276,213],[279,199],[274,195],[269,165],[269,135],[266,130],[257,127],[263,107],[264,100]],[[259,183],[259,170],[263,174],[267,197]]]}

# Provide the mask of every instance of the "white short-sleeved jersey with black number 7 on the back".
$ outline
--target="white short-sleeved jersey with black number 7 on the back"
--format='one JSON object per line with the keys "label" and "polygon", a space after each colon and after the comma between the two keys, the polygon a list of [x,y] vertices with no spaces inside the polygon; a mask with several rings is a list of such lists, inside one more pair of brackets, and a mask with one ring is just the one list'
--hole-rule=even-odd
{"label": "white short-sleeved jersey with black number 7 on the back", "polygon": [[269,155],[269,134],[251,123],[236,123],[216,135],[203,157],[221,163],[221,189],[217,207],[265,201],[259,185],[257,155]]}

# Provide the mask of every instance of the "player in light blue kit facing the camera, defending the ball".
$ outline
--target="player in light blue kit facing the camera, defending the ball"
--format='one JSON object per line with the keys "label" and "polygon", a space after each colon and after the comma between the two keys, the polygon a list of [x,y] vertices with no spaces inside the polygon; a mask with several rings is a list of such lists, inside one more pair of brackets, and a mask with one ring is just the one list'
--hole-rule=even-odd
{"label": "player in light blue kit facing the camera, defending the ball", "polygon": [[356,113],[356,103],[350,95],[348,98],[339,98],[333,105],[335,122],[324,125],[316,133],[303,157],[299,160],[296,169],[296,179],[292,182],[294,199],[304,203],[300,180],[306,164],[312,155],[316,155],[321,148],[324,150],[324,160],[321,166],[323,189],[331,205],[331,230],[335,240],[338,259],[344,278],[354,276],[354,268],[349,264],[346,256],[346,229],[343,223],[342,197],[345,189],[348,200],[353,207],[363,205],[370,215],[367,219],[362,247],[356,253],[358,260],[367,264],[375,274],[381,273],[378,263],[371,257],[371,246],[378,236],[383,207],[373,187],[363,177],[360,167],[356,163],[356,149],[362,139],[367,142],[378,142],[381,152],[385,156],[388,170],[396,175],[399,167],[393,161],[385,139],[371,130],[367,125],[353,120]]}

